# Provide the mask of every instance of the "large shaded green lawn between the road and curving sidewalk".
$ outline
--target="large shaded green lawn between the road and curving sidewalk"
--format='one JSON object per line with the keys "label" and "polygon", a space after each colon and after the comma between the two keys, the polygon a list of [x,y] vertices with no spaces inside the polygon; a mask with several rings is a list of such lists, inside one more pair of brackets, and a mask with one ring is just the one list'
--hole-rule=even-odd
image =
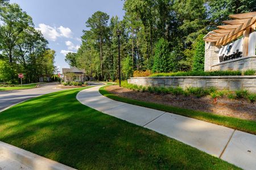
{"label": "large shaded green lawn between the road and curving sidewalk", "polygon": [[238,169],[80,104],[81,89],[36,97],[0,113],[0,141],[77,169]]}

